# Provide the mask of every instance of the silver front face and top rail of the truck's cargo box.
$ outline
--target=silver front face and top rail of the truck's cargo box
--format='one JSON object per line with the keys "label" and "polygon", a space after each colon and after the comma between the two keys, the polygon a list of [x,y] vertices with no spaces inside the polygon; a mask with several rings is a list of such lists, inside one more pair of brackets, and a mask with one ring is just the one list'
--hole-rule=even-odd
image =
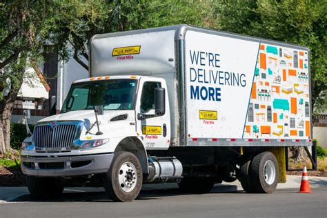
{"label": "silver front face and top rail of the truck's cargo box", "polygon": [[90,77],[136,74],[150,76],[176,72],[177,59],[180,57],[176,41],[186,39],[188,31],[309,50],[295,44],[186,24],[112,32],[96,34],[90,39]]}

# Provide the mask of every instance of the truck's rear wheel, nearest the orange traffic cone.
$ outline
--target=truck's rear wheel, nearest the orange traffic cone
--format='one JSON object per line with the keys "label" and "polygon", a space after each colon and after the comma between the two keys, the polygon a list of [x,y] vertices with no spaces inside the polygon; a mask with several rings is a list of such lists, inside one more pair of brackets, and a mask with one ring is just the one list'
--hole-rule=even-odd
{"label": "truck's rear wheel, nearest the orange traffic cone", "polygon": [[[268,168],[275,168],[275,177],[267,177],[267,175],[269,174]],[[250,166],[250,177],[255,192],[274,192],[279,179],[279,169],[275,155],[273,155],[272,152],[262,152],[259,155],[253,157]],[[265,178],[268,178],[268,182]]]}

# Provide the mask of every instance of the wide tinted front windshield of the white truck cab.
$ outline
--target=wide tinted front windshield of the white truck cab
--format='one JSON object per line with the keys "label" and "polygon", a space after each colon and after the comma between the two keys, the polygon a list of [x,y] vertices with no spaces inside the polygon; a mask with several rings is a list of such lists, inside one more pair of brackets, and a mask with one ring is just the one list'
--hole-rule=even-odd
{"label": "wide tinted front windshield of the white truck cab", "polygon": [[61,112],[71,110],[133,110],[136,79],[109,79],[72,84]]}

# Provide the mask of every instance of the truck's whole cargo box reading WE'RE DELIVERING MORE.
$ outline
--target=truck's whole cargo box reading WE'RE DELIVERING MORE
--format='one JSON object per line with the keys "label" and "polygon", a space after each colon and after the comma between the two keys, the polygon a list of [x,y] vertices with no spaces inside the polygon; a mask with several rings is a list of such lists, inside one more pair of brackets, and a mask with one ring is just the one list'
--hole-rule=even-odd
{"label": "truck's whole cargo box reading WE'RE DELIVERING MORE", "polygon": [[172,146],[310,146],[308,48],[193,26],[99,34],[90,76],[166,79]]}

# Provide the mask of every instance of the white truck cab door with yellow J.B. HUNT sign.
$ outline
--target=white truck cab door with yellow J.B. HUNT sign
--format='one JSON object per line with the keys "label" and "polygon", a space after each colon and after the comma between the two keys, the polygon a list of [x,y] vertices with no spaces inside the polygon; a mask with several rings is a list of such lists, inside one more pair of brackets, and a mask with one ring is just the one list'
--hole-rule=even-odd
{"label": "white truck cab door with yellow J.B. HUNT sign", "polygon": [[[155,115],[155,89],[165,89],[166,111]],[[168,148],[170,143],[170,110],[166,81],[161,78],[142,77],[136,105],[137,132],[147,149]]]}

